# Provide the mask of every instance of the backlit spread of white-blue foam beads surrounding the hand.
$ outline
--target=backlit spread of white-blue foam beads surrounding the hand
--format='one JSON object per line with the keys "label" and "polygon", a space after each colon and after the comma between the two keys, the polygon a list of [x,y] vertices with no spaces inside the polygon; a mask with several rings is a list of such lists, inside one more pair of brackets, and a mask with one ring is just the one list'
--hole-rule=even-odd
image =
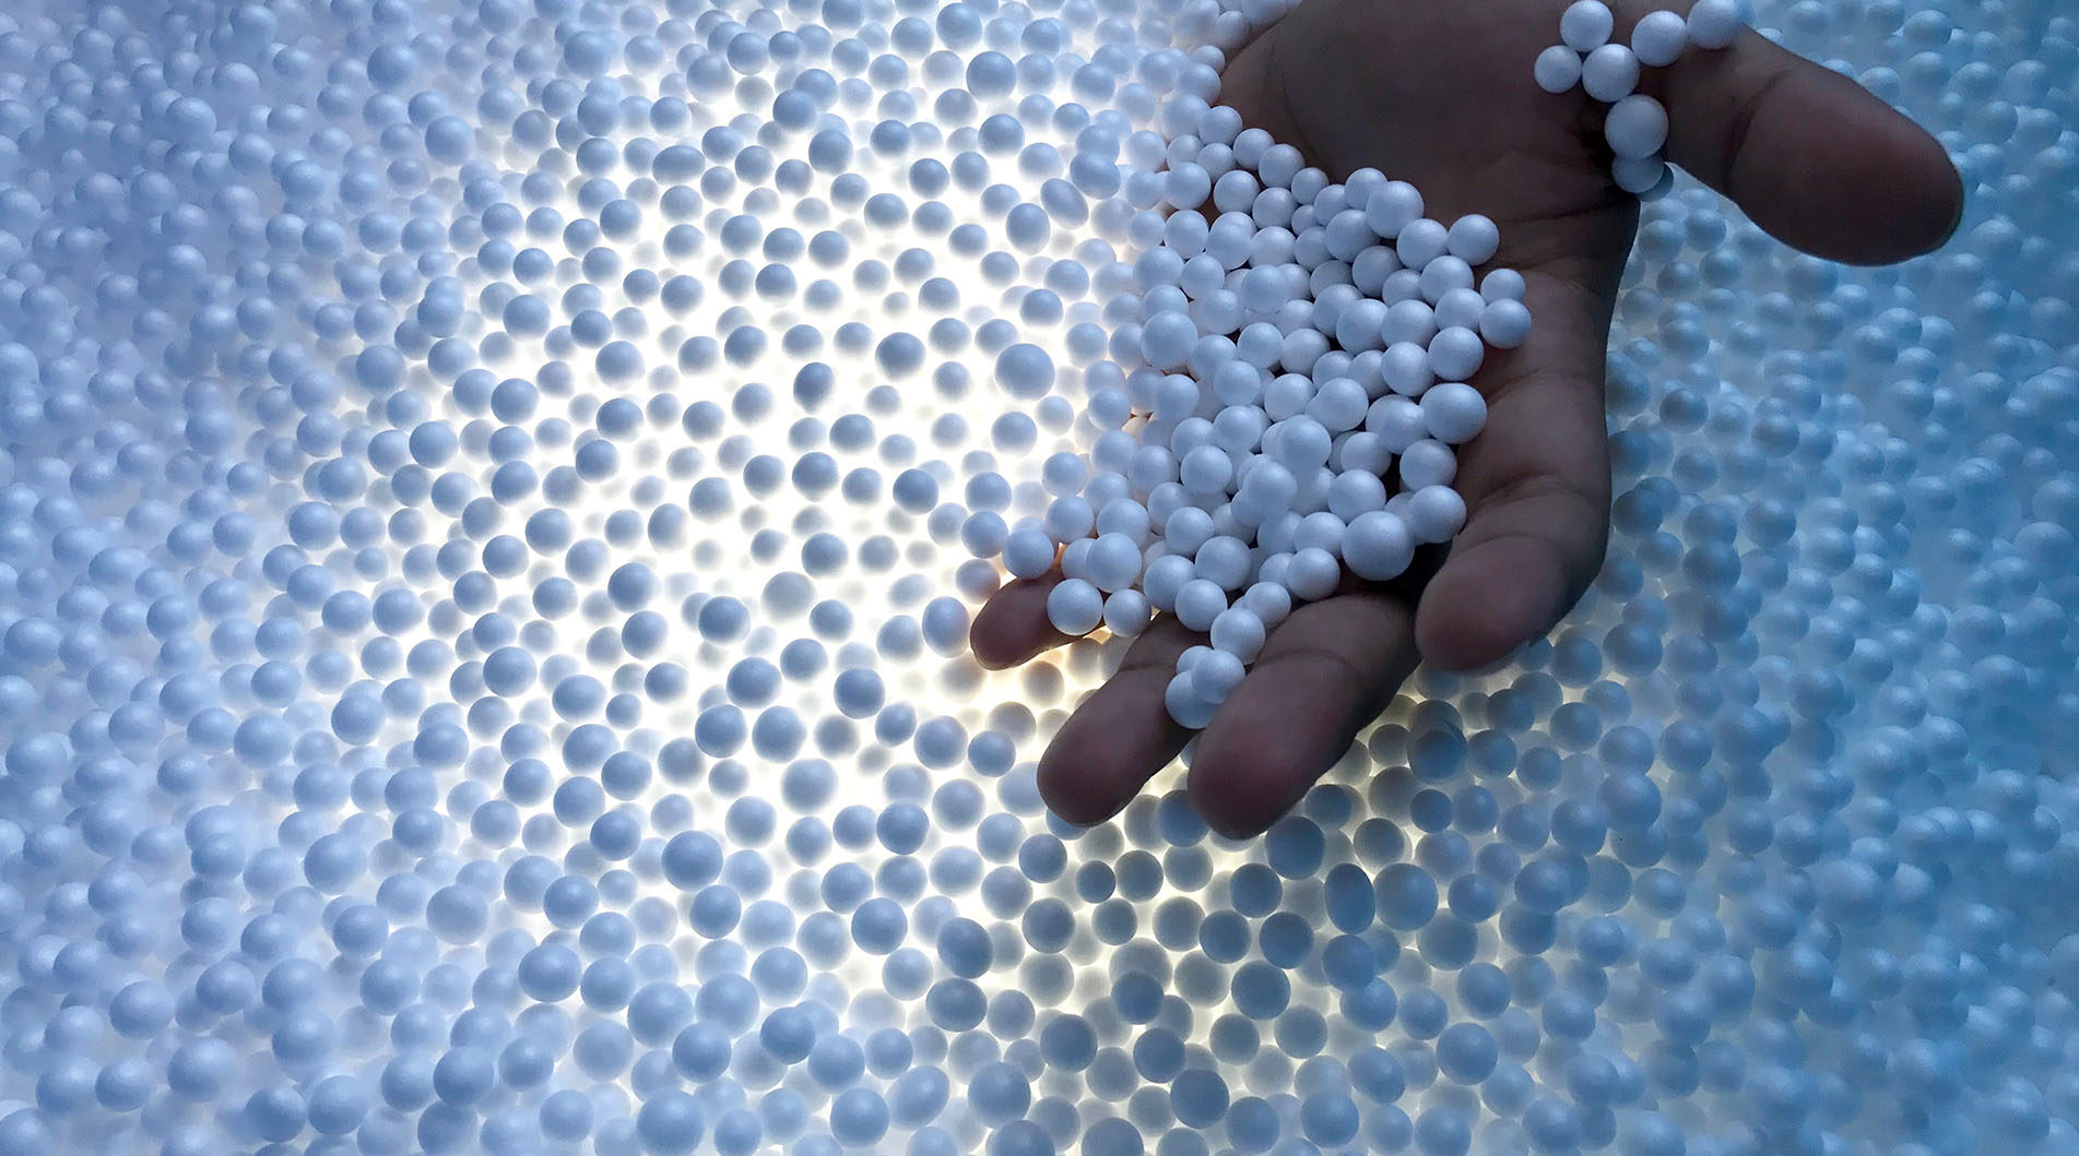
{"label": "backlit spread of white-blue foam beads surrounding the hand", "polygon": [[1287,8],[0,12],[0,1156],[2079,1150],[2056,4],[1761,2],[1956,239],[1674,179],[1553,636],[1262,840],[1046,815],[1125,638],[983,672],[973,551]]}

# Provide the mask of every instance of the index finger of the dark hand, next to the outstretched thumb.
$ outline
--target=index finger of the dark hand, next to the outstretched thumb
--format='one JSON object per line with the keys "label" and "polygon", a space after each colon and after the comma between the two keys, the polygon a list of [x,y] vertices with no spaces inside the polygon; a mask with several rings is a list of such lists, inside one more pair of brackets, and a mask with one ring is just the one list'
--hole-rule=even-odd
{"label": "index finger of the dark hand, next to the outstretched thumb", "polygon": [[1437,667],[1476,669],[1545,634],[1603,566],[1609,304],[1597,277],[1526,272],[1530,339],[1478,374],[1486,428],[1462,447],[1453,480],[1466,528],[1422,593],[1414,630]]}

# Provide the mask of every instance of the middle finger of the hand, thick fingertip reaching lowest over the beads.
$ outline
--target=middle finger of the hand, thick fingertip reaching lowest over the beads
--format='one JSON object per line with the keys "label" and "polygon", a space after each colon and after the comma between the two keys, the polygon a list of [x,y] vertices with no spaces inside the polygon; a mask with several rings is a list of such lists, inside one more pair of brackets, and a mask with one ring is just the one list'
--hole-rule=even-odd
{"label": "middle finger of the hand, thick fingertip reaching lowest over the beads", "polygon": [[1281,622],[1198,742],[1187,788],[1206,825],[1249,838],[1289,811],[1414,669],[1412,626],[1407,603],[1380,590]]}

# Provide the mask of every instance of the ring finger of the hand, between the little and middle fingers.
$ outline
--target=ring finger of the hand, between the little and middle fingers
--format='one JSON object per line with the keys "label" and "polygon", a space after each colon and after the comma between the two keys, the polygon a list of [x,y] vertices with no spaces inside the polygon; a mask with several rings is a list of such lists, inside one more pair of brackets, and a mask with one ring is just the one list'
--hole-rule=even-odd
{"label": "ring finger of the hand, between the little and middle fingers", "polygon": [[1204,642],[1162,615],[1133,640],[1119,672],[1069,715],[1040,757],[1040,798],[1062,819],[1102,823],[1183,751],[1191,732],[1168,717],[1162,688],[1177,655]]}

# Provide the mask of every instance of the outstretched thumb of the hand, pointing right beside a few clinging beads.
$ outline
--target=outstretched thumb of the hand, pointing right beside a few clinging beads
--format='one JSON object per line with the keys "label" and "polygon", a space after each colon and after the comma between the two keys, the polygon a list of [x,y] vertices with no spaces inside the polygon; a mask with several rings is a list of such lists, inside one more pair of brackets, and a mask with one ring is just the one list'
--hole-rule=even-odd
{"label": "outstretched thumb of the hand, pointing right beside a few clinging beads", "polygon": [[1786,245],[1886,264],[1942,245],[1963,218],[1963,177],[1933,137],[1761,33],[1692,48],[1649,85],[1667,106],[1667,158]]}

